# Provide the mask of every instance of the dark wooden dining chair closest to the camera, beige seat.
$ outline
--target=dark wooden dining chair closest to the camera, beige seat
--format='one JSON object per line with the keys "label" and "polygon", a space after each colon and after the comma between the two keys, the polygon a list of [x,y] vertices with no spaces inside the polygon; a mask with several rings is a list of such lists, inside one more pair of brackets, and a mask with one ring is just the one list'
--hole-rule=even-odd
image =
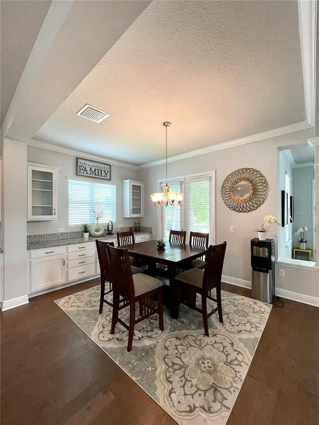
{"label": "dark wooden dining chair closest to the camera, beige seat", "polygon": [[[111,334],[115,332],[115,325],[119,322],[129,331],[128,351],[132,349],[134,326],[142,320],[159,314],[160,330],[163,325],[162,282],[151,276],[138,273],[132,275],[130,259],[126,248],[108,246],[110,266],[113,282],[113,315]],[[130,323],[127,324],[119,318],[120,296],[130,304]],[[158,303],[155,301],[158,299]],[[135,303],[139,302],[140,317],[135,318]]]}

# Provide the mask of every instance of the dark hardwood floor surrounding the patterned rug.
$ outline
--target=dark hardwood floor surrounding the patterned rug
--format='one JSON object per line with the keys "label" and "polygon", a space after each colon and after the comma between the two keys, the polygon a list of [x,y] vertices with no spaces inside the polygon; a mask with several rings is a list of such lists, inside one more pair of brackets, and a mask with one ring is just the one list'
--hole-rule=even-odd
{"label": "dark hardwood floor surrounding the patterned rug", "polygon": [[[96,284],[1,313],[1,425],[176,424],[53,302]],[[227,422],[286,424],[319,425],[319,308],[290,300],[272,308]]]}

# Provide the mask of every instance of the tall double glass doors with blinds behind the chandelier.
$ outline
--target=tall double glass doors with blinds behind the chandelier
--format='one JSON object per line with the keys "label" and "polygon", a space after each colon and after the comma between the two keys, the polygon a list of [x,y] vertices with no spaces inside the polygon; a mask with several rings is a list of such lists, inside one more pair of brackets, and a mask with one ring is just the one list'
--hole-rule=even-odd
{"label": "tall double glass doors with blinds behind the chandelier", "polygon": [[166,241],[169,230],[186,230],[186,241],[189,232],[209,233],[209,241],[213,242],[213,198],[212,176],[185,177],[178,182],[170,182],[169,190],[184,193],[182,205],[162,208],[161,229]]}

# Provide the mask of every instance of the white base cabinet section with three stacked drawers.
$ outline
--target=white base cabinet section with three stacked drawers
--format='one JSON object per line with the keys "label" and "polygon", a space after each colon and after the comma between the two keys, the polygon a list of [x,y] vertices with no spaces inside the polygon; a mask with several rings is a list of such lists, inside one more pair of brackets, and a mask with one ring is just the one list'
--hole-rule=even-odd
{"label": "white base cabinet section with three stacked drawers", "polygon": [[68,282],[83,279],[96,274],[96,244],[69,245],[68,251]]}

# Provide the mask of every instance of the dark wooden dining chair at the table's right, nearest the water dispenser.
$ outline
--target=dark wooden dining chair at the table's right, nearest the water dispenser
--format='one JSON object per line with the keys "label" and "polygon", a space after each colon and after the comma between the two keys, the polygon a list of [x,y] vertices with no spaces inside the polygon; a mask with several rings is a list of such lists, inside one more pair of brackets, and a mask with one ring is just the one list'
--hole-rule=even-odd
{"label": "dark wooden dining chair at the table's right, nearest the water dispenser", "polygon": [[[221,307],[221,274],[225,258],[227,242],[220,245],[210,245],[206,254],[206,267],[201,269],[189,269],[175,277],[175,309],[178,313],[179,304],[199,311],[203,316],[205,335],[208,334],[208,317],[218,310],[219,321],[223,322]],[[211,295],[211,290],[216,288],[216,298]],[[196,294],[201,296],[201,308],[196,305]],[[217,302],[217,307],[207,312],[207,298]]]}

